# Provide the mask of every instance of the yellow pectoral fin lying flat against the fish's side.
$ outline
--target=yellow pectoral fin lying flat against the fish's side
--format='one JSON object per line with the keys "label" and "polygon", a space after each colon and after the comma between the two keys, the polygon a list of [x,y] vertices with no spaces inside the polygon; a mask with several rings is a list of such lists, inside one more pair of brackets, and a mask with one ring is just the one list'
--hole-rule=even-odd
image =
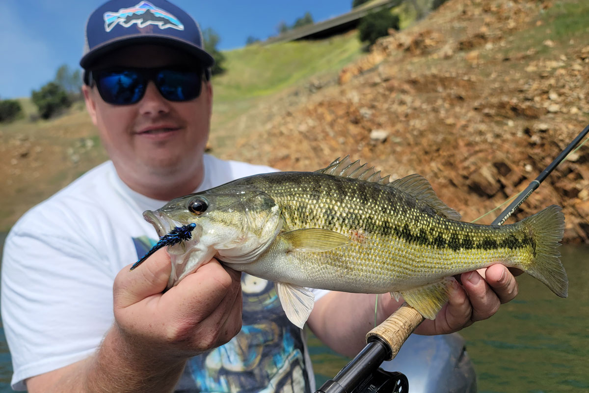
{"label": "yellow pectoral fin lying flat against the fish's side", "polygon": [[289,251],[325,252],[343,246],[348,236],[329,229],[295,229],[279,235],[289,245]]}

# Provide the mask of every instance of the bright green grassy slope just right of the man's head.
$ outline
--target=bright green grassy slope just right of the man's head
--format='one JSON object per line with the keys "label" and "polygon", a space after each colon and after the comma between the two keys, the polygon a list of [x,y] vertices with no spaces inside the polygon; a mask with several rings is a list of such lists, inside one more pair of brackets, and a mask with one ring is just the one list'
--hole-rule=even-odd
{"label": "bright green grassy slope just right of the man's head", "polygon": [[363,55],[356,31],[316,41],[254,44],[223,52],[221,75],[213,78],[213,124],[215,148],[233,143],[235,120],[272,95],[296,88],[311,78],[336,78],[338,72]]}

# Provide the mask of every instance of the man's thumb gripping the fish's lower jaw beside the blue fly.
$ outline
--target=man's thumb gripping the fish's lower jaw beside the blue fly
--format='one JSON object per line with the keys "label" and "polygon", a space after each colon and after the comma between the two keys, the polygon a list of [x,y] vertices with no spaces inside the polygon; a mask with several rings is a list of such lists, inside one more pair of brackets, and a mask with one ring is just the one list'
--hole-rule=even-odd
{"label": "man's thumb gripping the fish's lower jaw beside the blue fly", "polygon": [[125,308],[166,289],[172,265],[165,249],[157,250],[134,270],[130,267],[123,267],[114,280],[115,306]]}

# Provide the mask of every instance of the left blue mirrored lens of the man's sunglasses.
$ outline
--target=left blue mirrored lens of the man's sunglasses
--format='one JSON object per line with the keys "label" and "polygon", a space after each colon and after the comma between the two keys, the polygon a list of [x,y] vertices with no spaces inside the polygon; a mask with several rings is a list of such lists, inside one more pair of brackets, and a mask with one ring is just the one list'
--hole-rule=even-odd
{"label": "left blue mirrored lens of the man's sunglasses", "polygon": [[97,83],[102,99],[111,104],[137,103],[145,92],[143,78],[133,71],[102,72]]}

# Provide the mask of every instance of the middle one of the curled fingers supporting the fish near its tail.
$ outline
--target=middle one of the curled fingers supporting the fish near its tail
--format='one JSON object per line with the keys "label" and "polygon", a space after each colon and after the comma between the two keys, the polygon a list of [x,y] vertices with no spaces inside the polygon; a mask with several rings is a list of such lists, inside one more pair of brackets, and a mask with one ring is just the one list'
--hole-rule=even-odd
{"label": "middle one of the curled fingers supporting the fish near its tail", "polygon": [[499,298],[478,272],[462,273],[461,282],[471,300],[472,321],[487,319],[497,312]]}

